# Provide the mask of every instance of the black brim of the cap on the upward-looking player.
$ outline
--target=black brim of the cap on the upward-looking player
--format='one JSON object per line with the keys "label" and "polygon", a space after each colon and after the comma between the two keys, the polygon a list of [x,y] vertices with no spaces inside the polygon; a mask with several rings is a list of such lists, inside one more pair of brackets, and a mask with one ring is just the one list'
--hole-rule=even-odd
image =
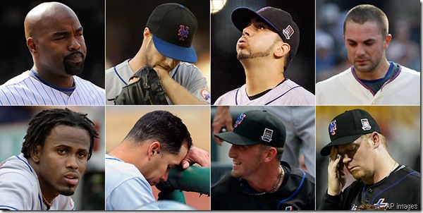
{"label": "black brim of the cap on the upward-looking player", "polygon": [[[278,28],[275,27],[272,23],[269,22],[266,18],[261,16],[259,13],[256,13],[250,8],[246,7],[240,7],[235,8],[235,10],[232,11],[232,23],[235,25],[235,27],[243,32],[244,28],[247,27],[247,25],[250,23],[251,18],[262,18],[268,25],[270,25],[276,32],[278,32],[279,35],[281,35],[281,32],[278,31]],[[282,37],[282,35],[281,35]]]}

